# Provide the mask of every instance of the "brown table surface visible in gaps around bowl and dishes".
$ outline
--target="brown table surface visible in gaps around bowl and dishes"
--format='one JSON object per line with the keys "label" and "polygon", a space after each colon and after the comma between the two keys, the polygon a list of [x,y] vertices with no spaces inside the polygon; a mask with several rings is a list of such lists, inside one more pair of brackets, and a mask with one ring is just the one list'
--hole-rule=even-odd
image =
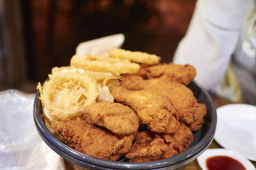
{"label": "brown table surface visible in gaps around bowl and dishes", "polygon": [[[232,104],[233,102],[224,99],[222,97],[218,97],[218,96],[212,96],[212,99],[215,103],[216,108],[226,105],[226,104]],[[218,143],[216,143],[216,141],[212,141],[211,145],[209,146],[209,148],[222,148],[220,145],[218,145]],[[251,161],[252,164],[256,167],[256,162]],[[67,170],[78,170],[78,169],[85,169],[85,168],[81,168],[78,167],[70,162],[65,161],[65,166]],[[194,160],[192,162],[190,162],[189,164],[187,164],[186,166],[183,167],[179,167],[177,170],[200,170],[201,167],[199,166],[197,160]]]}

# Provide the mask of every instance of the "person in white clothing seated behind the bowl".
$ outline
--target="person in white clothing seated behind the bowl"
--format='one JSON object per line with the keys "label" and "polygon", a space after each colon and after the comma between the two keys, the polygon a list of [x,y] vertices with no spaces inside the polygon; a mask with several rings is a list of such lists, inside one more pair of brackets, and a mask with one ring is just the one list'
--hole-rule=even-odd
{"label": "person in white clothing seated behind the bowl", "polygon": [[253,0],[198,0],[173,62],[195,66],[210,92],[256,105],[256,38],[248,35],[255,20]]}

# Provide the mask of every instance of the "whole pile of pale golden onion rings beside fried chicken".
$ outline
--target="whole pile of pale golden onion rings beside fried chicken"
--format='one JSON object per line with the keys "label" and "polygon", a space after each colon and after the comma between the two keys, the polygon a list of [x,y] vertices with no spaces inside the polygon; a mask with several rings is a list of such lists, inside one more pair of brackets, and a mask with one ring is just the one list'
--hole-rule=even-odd
{"label": "whole pile of pale golden onion rings beside fried chicken", "polygon": [[137,73],[138,63],[156,64],[159,60],[156,55],[122,49],[113,49],[108,55],[74,55],[71,66],[52,68],[44,87],[38,83],[44,114],[56,122],[78,118],[93,102],[113,102],[109,87],[119,84],[120,74]]}

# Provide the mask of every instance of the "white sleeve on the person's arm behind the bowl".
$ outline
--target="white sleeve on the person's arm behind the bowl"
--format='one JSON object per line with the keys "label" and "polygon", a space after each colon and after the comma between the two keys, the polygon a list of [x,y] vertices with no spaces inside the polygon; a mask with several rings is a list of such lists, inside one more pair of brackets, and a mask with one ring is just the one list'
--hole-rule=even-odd
{"label": "white sleeve on the person's arm behind the bowl", "polygon": [[195,80],[207,90],[213,90],[227,70],[249,1],[199,0],[196,3],[173,62],[195,66]]}

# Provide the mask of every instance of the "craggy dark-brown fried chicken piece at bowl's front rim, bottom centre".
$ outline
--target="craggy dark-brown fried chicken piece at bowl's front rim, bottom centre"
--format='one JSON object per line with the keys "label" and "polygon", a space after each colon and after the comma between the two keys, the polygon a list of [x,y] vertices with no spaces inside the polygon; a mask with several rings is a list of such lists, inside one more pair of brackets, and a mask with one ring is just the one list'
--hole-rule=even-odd
{"label": "craggy dark-brown fried chicken piece at bowl's front rim, bottom centre", "polygon": [[160,134],[144,131],[138,133],[131,151],[125,157],[129,159],[129,162],[148,162],[177,154],[177,150],[165,143]]}

